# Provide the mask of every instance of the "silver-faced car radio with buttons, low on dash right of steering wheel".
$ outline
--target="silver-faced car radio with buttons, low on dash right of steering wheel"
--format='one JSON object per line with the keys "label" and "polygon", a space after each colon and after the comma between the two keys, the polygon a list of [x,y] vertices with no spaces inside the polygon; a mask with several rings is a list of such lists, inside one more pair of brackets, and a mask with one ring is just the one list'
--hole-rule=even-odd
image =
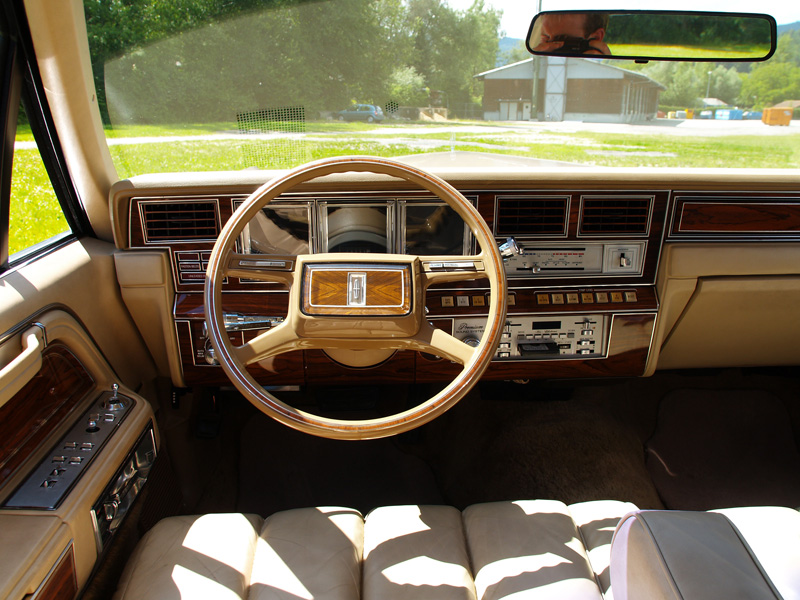
{"label": "silver-faced car radio with buttons, low on dash right of steering wheel", "polygon": [[[607,315],[560,315],[506,320],[495,360],[542,360],[603,358],[608,345]],[[457,318],[453,335],[465,344],[477,346],[486,320]]]}

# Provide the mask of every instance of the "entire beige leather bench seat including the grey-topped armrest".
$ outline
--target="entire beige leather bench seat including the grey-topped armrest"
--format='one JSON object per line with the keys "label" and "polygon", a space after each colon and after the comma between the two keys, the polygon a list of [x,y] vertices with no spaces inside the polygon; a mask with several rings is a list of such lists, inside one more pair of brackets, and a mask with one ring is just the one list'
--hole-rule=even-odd
{"label": "entire beige leather bench seat including the grey-topped armrest", "polygon": [[[613,538],[613,539],[612,539]],[[551,500],[173,517],[115,598],[800,600],[800,513]]]}

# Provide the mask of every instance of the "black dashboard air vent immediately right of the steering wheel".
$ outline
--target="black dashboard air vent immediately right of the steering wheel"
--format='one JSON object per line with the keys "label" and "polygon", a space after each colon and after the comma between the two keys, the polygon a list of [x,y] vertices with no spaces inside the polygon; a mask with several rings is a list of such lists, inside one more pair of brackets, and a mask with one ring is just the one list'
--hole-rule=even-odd
{"label": "black dashboard air vent immediately right of the steering wheel", "polygon": [[566,235],[568,196],[501,196],[495,235]]}

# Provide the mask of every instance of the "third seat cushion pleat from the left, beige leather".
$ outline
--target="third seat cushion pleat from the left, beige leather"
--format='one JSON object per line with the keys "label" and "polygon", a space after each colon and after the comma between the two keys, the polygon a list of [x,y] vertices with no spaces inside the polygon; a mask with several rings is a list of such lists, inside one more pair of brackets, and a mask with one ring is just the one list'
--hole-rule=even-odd
{"label": "third seat cushion pleat from the left, beige leather", "polygon": [[364,529],[365,600],[475,600],[461,513],[450,506],[390,506]]}

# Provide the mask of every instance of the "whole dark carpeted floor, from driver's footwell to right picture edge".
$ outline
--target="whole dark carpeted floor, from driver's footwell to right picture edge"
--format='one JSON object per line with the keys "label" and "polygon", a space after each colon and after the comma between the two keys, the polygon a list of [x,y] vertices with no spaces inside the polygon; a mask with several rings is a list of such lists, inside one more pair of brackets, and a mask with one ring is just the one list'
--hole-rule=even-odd
{"label": "whole dark carpeted floor, from driver's footwell to right picture edge", "polygon": [[[368,512],[388,504],[463,508],[535,498],[619,499],[641,508],[800,506],[792,429],[798,389],[794,372],[736,370],[484,383],[419,430],[370,442],[300,434],[245,403],[224,415],[214,443],[218,464],[199,506],[261,515],[312,505]],[[409,400],[399,388],[373,397],[392,394],[392,409]],[[343,390],[326,394],[325,410],[359,418],[369,416],[359,410],[377,409],[357,396],[351,402]],[[317,399],[295,400],[310,409]]]}

